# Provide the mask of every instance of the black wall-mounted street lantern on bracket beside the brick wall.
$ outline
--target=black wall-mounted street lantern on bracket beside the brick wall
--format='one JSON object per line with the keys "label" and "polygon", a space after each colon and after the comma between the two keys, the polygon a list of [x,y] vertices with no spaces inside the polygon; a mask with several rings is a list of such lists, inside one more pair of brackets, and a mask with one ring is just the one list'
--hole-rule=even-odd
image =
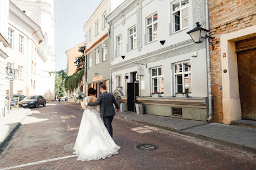
{"label": "black wall-mounted street lantern on bracket beside the brick wall", "polygon": [[[210,38],[213,39],[214,37],[210,37],[209,35],[207,35],[207,33],[209,32],[209,30],[204,29],[201,27],[201,25],[199,24],[199,22],[196,22],[196,27],[190,31],[187,32],[187,34],[190,35],[190,37],[193,39],[193,41],[196,44],[199,44],[201,42],[204,41],[204,39],[208,39],[208,41],[210,42]],[[212,44],[212,42],[211,42]],[[212,50],[214,50],[214,45],[212,44]]]}

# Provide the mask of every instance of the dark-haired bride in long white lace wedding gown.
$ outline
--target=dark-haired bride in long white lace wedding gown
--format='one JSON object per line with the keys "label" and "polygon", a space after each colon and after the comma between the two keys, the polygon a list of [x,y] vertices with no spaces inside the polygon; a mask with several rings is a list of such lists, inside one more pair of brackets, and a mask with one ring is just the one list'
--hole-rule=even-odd
{"label": "dark-haired bride in long white lace wedding gown", "polygon": [[96,90],[90,88],[88,96],[79,100],[84,109],[83,118],[76,138],[74,154],[78,155],[77,160],[90,161],[110,157],[118,153],[120,147],[115,144],[104,126],[100,115],[99,106],[87,106],[86,102],[95,102]]}

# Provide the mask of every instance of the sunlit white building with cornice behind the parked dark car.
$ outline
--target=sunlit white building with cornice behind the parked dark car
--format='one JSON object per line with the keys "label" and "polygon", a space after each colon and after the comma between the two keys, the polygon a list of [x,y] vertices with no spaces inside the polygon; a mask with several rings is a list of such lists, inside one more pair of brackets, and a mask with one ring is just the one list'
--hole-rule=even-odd
{"label": "sunlit white building with cornice behind the parked dark car", "polygon": [[10,2],[8,23],[7,66],[18,72],[13,94],[55,100],[53,2]]}

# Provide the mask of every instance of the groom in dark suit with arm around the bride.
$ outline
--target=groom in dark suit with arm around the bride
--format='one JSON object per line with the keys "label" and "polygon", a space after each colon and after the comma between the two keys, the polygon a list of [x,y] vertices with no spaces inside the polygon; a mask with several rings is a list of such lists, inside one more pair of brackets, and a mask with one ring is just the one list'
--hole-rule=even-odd
{"label": "groom in dark suit with arm around the bride", "polygon": [[87,106],[96,106],[100,105],[100,116],[103,117],[104,125],[107,128],[108,133],[111,137],[113,137],[113,129],[111,122],[113,121],[114,115],[115,115],[115,109],[113,104],[115,105],[115,108],[117,108],[117,113],[119,113],[119,106],[117,104],[117,101],[115,101],[115,97],[112,93],[107,92],[106,85],[100,86],[100,92],[102,94],[99,95],[99,98],[96,102],[87,103]]}

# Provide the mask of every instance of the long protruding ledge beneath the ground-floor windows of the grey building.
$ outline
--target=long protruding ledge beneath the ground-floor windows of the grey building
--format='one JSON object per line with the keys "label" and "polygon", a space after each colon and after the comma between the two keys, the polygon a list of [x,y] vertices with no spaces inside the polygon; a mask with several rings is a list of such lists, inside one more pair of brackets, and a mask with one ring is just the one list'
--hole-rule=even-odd
{"label": "long protruding ledge beneath the ground-floor windows of the grey building", "polygon": [[206,98],[136,97],[136,99],[148,105],[207,109]]}

